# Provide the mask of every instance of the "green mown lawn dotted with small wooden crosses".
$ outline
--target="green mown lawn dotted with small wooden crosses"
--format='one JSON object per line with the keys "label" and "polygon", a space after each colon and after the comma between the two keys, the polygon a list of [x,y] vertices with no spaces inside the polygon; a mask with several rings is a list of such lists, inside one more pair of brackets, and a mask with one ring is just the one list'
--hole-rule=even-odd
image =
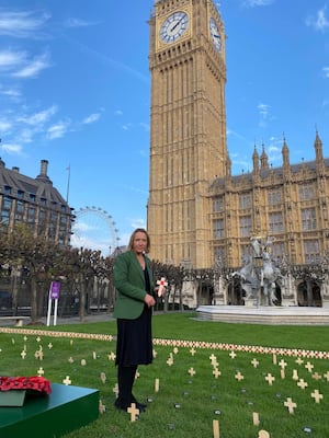
{"label": "green mown lawn dotted with small wooden crosses", "polygon": [[[285,347],[311,350],[328,350],[329,327],[326,326],[265,326],[249,324],[227,324],[201,322],[192,313],[158,314],[154,316],[154,337],[168,339],[204,341],[215,343]],[[54,330],[54,327],[35,327]],[[114,321],[104,323],[67,324],[56,331],[81,333],[116,333]],[[48,344],[52,343],[52,348]],[[27,356],[21,358],[26,345]],[[42,347],[43,360],[34,357]],[[190,348],[156,346],[157,356],[152,365],[139,367],[140,377],[135,382],[135,395],[140,401],[149,400],[146,413],[136,423],[129,422],[128,414],[113,407],[113,387],[116,383],[114,362],[109,354],[115,351],[115,342],[64,338],[22,334],[0,334],[0,374],[35,376],[43,367],[45,377],[52,382],[61,383],[66,376],[71,384],[100,390],[100,397],[106,411],[93,424],[66,435],[66,438],[186,438],[213,437],[213,419],[218,419],[220,438],[253,438],[264,429],[271,438],[302,438],[314,436],[327,438],[328,425],[328,380],[324,377],[329,371],[329,361],[304,359],[297,365],[295,357],[284,357],[287,366],[285,379],[281,378],[281,367],[273,364],[272,355],[237,351],[231,358],[228,350],[196,349],[193,356]],[[95,353],[95,359],[93,358]],[[214,354],[222,374],[213,376],[209,356]],[[173,365],[167,364],[170,355]],[[73,362],[69,362],[69,358]],[[259,360],[258,368],[251,360]],[[277,356],[277,361],[282,357]],[[81,360],[86,360],[86,366]],[[305,364],[314,365],[310,373]],[[193,367],[194,377],[189,374]],[[308,387],[302,390],[292,379],[297,370],[299,379]],[[238,381],[235,376],[240,371],[245,379]],[[106,374],[106,382],[100,374]],[[272,385],[265,381],[271,372],[275,377]],[[313,378],[318,372],[320,380]],[[160,390],[155,393],[155,380],[159,379]],[[320,403],[310,396],[318,389],[324,394]],[[287,397],[297,404],[294,414],[284,406]],[[252,413],[260,415],[260,425],[252,423]],[[309,427],[313,433],[303,429]]]}

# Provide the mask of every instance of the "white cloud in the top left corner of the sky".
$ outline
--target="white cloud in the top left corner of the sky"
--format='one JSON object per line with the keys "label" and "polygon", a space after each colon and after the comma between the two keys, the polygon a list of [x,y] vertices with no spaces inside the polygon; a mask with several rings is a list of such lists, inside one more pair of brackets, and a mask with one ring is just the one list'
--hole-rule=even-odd
{"label": "white cloud in the top left corner of the sky", "polygon": [[14,38],[36,37],[50,15],[43,13],[36,15],[33,11],[8,11],[0,8],[0,35],[7,35]]}

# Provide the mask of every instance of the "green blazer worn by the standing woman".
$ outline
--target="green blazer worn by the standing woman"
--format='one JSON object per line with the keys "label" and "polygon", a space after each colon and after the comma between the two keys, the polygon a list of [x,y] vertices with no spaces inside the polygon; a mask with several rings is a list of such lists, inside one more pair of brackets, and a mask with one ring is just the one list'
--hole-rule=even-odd
{"label": "green blazer worn by the standing woman", "polygon": [[[150,260],[145,256],[146,268],[149,275],[150,290],[155,288]],[[144,310],[146,296],[144,272],[134,251],[120,254],[114,262],[114,286],[116,301],[114,318],[135,320]]]}

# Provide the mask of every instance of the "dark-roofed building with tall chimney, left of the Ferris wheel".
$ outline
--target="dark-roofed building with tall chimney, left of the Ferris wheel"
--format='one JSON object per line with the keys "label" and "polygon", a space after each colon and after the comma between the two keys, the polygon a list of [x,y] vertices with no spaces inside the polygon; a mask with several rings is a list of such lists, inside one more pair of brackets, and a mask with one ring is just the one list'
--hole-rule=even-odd
{"label": "dark-roofed building with tall chimney, left of the Ferris wheel", "polygon": [[67,246],[70,243],[72,209],[53,186],[47,175],[48,161],[41,161],[35,178],[22,175],[19,168],[7,169],[0,159],[1,232],[25,223],[33,235]]}

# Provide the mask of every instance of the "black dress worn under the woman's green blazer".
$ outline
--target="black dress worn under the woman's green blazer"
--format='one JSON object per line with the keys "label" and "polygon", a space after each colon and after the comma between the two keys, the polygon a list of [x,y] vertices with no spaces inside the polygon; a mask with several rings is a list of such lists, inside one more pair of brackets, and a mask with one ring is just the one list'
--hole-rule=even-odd
{"label": "black dress worn under the woman's green blazer", "polygon": [[[144,269],[145,289],[151,295],[147,268]],[[116,365],[148,365],[152,361],[152,310],[146,304],[136,320],[117,319]]]}

